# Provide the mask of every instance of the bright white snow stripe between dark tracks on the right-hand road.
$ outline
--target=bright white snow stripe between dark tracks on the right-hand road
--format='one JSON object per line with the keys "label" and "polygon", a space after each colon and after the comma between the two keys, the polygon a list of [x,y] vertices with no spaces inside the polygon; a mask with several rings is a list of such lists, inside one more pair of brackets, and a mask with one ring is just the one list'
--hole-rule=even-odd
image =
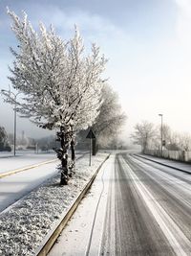
{"label": "bright white snow stripe between dark tracks on the right-hand road", "polygon": [[[125,160],[120,157],[121,162],[127,167],[129,174],[133,178],[140,196],[144,199],[145,204],[153,214],[155,220],[158,222],[163,234],[171,244],[177,255],[190,255],[191,242],[185,237],[179,226],[173,221],[170,216],[161,207],[159,202],[151,195],[147,188],[143,185],[138,176],[131,170],[130,166]],[[185,251],[187,248],[187,252]]]}

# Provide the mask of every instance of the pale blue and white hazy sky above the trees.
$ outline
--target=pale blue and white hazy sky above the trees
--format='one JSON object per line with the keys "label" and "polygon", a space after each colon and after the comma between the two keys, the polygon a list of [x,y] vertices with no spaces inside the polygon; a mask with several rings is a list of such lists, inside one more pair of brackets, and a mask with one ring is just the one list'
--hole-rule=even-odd
{"label": "pale blue and white hazy sky above the trees", "polygon": [[[10,46],[16,41],[6,7],[28,13],[32,25],[53,23],[63,38],[79,27],[85,44],[96,42],[109,58],[106,77],[128,115],[125,134],[141,120],[191,132],[191,0],[0,0],[0,89],[8,88]],[[10,105],[0,99],[0,126],[12,130]],[[41,136],[18,119],[18,132]]]}

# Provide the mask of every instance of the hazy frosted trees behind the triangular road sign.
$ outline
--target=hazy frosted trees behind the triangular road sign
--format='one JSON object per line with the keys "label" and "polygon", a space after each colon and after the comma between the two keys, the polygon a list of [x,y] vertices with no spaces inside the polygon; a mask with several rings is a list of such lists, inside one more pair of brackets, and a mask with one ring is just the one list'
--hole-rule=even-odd
{"label": "hazy frosted trees behind the triangular road sign", "polygon": [[[117,92],[111,85],[105,84],[101,90],[101,102],[99,114],[96,117],[91,128],[93,129],[96,139],[93,140],[93,153],[100,149],[114,149],[114,145],[118,144],[118,133],[120,128],[125,124],[126,115],[122,112],[118,103]],[[85,140],[88,129],[81,130],[77,136],[79,148],[87,149],[88,141]],[[95,152],[96,153],[96,152]]]}

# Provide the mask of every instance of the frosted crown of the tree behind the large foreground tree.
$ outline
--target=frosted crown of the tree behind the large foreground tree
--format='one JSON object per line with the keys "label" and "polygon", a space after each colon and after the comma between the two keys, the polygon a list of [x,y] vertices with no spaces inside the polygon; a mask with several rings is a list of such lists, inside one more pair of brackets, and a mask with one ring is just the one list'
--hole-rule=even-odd
{"label": "frosted crown of the tree behind the large foreground tree", "polygon": [[117,93],[110,85],[103,86],[101,98],[102,105],[92,128],[98,144],[105,147],[117,136],[119,128],[125,123],[126,115],[122,113]]}

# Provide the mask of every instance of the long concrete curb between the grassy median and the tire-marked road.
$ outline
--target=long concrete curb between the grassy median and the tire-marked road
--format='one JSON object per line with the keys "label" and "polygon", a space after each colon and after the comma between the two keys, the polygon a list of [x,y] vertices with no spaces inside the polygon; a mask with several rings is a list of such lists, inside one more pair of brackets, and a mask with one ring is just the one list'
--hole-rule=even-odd
{"label": "long concrete curb between the grassy median and the tire-marked road", "polygon": [[97,168],[95,174],[92,176],[90,181],[85,185],[80,195],[75,199],[74,203],[72,204],[71,208],[68,210],[67,213],[64,213],[60,221],[55,224],[53,227],[53,230],[51,230],[48,235],[45,237],[42,244],[37,248],[35,256],[46,256],[51,248],[53,247],[53,244],[55,243],[56,239],[64,229],[67,222],[71,219],[71,217],[74,214],[74,211],[76,210],[78,204],[80,203],[81,199],[84,198],[87,191],[90,189],[91,185],[93,184],[96,175],[98,174],[99,170],[101,169],[102,165],[105,163],[105,161],[109,158],[110,154],[105,158],[105,160],[100,164],[100,166]]}

